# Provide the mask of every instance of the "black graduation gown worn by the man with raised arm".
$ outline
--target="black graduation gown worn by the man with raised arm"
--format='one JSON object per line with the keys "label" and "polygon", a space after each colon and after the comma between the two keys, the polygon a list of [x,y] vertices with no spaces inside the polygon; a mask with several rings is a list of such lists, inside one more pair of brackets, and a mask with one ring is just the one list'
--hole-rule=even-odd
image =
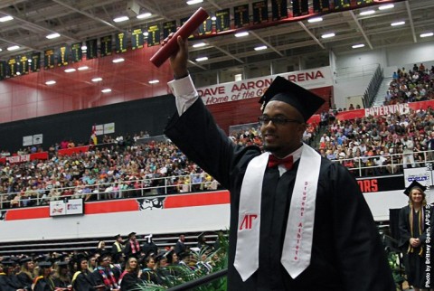
{"label": "black graduation gown worn by the man with raised arm", "polygon": [[282,177],[266,170],[262,187],[259,269],[242,282],[233,267],[243,176],[257,146],[238,146],[215,125],[202,99],[169,120],[165,135],[231,192],[228,290],[395,290],[372,213],[344,166],[322,158],[316,194],[312,257],[296,279],[281,265],[297,164]]}

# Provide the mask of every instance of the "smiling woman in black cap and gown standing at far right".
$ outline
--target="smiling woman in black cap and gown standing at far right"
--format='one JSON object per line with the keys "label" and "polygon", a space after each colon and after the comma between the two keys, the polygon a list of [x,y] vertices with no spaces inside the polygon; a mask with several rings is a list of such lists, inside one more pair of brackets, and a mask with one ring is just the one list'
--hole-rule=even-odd
{"label": "smiling woman in black cap and gown standing at far right", "polygon": [[[404,193],[409,196],[409,205],[400,211],[400,247],[404,254],[405,273],[407,281],[414,290],[418,291],[425,286],[426,269],[426,194],[427,187],[417,181],[410,183]],[[432,207],[429,207],[430,223],[432,226]],[[434,273],[433,273],[434,274]]]}

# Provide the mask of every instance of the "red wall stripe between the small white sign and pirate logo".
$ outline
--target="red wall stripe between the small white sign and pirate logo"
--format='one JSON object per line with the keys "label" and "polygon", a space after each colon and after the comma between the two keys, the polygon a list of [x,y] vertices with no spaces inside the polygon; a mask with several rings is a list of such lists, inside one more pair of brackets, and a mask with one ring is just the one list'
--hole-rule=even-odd
{"label": "red wall stripe between the small white sign and pirate logo", "polygon": [[84,205],[84,214],[138,211],[138,203],[135,199],[105,202],[87,202]]}

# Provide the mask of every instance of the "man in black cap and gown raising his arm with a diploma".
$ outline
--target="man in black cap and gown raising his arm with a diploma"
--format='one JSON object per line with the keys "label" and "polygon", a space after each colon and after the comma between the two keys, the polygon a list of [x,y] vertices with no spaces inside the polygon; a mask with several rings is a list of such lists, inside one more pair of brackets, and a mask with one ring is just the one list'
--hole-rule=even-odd
{"label": "man in black cap and gown raising his arm with a diploma", "polygon": [[168,83],[177,112],[165,135],[231,192],[228,290],[395,290],[354,177],[302,143],[324,100],[276,78],[261,98],[266,152],[235,145],[198,98],[187,42],[177,42]]}

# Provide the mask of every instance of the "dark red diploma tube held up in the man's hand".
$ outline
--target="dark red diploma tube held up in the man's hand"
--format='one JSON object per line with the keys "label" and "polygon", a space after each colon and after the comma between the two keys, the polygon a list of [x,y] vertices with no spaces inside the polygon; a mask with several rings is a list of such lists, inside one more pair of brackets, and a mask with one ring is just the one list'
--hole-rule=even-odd
{"label": "dark red diploma tube held up in the man's hand", "polygon": [[198,27],[201,25],[209,15],[206,11],[200,7],[197,11],[181,26],[174,36],[169,40],[169,42],[165,43],[149,60],[156,67],[160,67],[172,54],[174,54],[178,49],[178,42],[176,39],[178,35],[186,40]]}

